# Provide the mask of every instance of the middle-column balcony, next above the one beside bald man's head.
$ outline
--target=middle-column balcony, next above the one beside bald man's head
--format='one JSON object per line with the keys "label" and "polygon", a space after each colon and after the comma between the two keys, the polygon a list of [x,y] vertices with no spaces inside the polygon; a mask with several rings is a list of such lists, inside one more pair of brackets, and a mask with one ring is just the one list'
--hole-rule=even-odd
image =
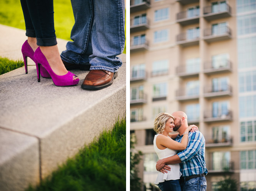
{"label": "middle-column balcony, next above the one beside bald man's head", "polygon": [[176,91],[176,100],[179,101],[190,101],[199,99],[199,90],[195,88],[194,90],[180,89]]}

